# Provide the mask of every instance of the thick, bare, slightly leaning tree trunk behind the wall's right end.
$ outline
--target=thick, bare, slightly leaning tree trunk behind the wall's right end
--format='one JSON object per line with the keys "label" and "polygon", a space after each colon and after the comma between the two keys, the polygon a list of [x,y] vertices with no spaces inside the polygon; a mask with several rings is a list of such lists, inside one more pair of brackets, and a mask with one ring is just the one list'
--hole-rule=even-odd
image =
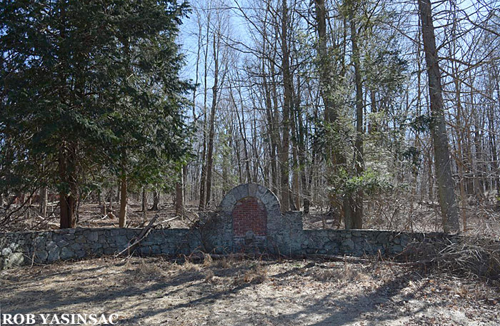
{"label": "thick, bare, slightly leaning tree trunk behind the wall's right end", "polygon": [[432,128],[434,141],[434,164],[439,189],[439,204],[443,216],[444,232],[460,232],[459,212],[455,201],[454,180],[451,176],[451,158],[448,148],[448,135],[444,121],[444,105],[441,89],[441,71],[437,61],[436,36],[432,23],[431,1],[419,1],[420,19],[424,52],[429,81],[429,97],[431,101]]}

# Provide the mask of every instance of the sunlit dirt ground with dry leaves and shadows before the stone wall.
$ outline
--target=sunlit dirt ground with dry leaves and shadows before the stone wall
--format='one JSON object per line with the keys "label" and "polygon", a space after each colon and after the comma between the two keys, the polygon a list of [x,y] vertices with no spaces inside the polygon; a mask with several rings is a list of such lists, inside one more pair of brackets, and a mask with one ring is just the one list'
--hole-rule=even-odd
{"label": "sunlit dirt ground with dry leaves and shadows before the stone wall", "polygon": [[117,325],[500,325],[483,282],[387,263],[100,258],[0,272],[2,313],[117,313]]}

